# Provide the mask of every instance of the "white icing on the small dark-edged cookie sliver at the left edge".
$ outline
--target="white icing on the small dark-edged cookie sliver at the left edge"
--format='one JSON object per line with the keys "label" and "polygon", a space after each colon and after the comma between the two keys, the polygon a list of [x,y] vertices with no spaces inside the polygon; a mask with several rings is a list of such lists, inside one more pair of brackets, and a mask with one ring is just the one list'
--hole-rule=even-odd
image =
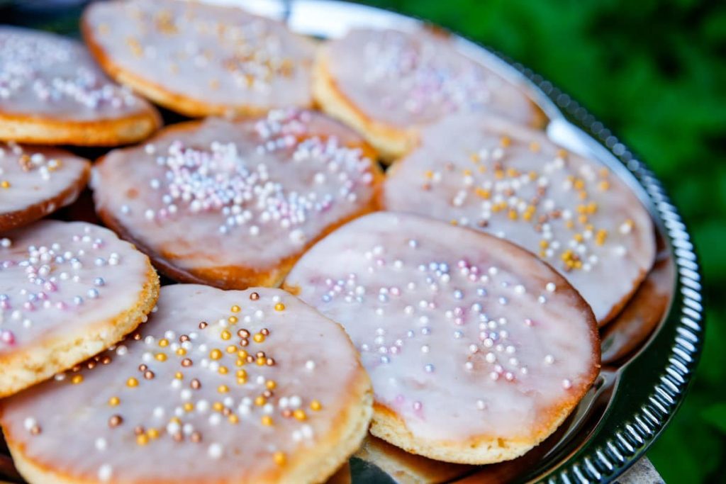
{"label": "white icing on the small dark-edged cookie sliver at the left edge", "polygon": [[[89,168],[88,160],[60,149],[0,143],[0,216],[60,196],[78,184]],[[70,193],[69,200],[61,200],[57,208],[72,202],[82,188]]]}

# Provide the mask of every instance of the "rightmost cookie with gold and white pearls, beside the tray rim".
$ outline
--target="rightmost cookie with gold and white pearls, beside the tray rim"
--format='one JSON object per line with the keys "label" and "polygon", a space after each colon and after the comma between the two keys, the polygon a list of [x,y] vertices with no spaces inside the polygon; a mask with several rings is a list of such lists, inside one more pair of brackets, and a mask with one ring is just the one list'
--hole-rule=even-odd
{"label": "rightmost cookie with gold and white pearls, beside the tray rim", "polygon": [[425,129],[420,147],[388,172],[383,205],[538,254],[600,324],[629,300],[655,258],[648,211],[618,176],[505,120],[457,116]]}

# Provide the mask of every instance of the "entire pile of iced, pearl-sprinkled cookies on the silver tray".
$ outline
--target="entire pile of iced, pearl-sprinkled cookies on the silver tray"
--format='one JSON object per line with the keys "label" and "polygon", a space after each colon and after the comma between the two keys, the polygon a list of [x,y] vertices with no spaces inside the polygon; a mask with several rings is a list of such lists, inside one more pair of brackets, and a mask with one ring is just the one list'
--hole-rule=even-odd
{"label": "entire pile of iced, pearl-sprinkled cookies on the silver tray", "polygon": [[444,480],[590,391],[653,223],[526,85],[423,27],[319,42],[111,0],[81,31],[0,27],[0,425],[25,480],[319,483],[356,451]]}

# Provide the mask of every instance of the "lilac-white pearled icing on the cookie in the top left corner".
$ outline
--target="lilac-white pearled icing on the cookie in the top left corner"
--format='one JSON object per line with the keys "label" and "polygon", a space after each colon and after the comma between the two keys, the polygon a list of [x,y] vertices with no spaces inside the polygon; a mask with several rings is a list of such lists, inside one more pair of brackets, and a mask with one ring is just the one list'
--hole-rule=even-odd
{"label": "lilac-white pearled icing on the cookie in the top left corner", "polygon": [[91,121],[148,109],[131,91],[109,81],[78,41],[0,27],[0,112]]}

